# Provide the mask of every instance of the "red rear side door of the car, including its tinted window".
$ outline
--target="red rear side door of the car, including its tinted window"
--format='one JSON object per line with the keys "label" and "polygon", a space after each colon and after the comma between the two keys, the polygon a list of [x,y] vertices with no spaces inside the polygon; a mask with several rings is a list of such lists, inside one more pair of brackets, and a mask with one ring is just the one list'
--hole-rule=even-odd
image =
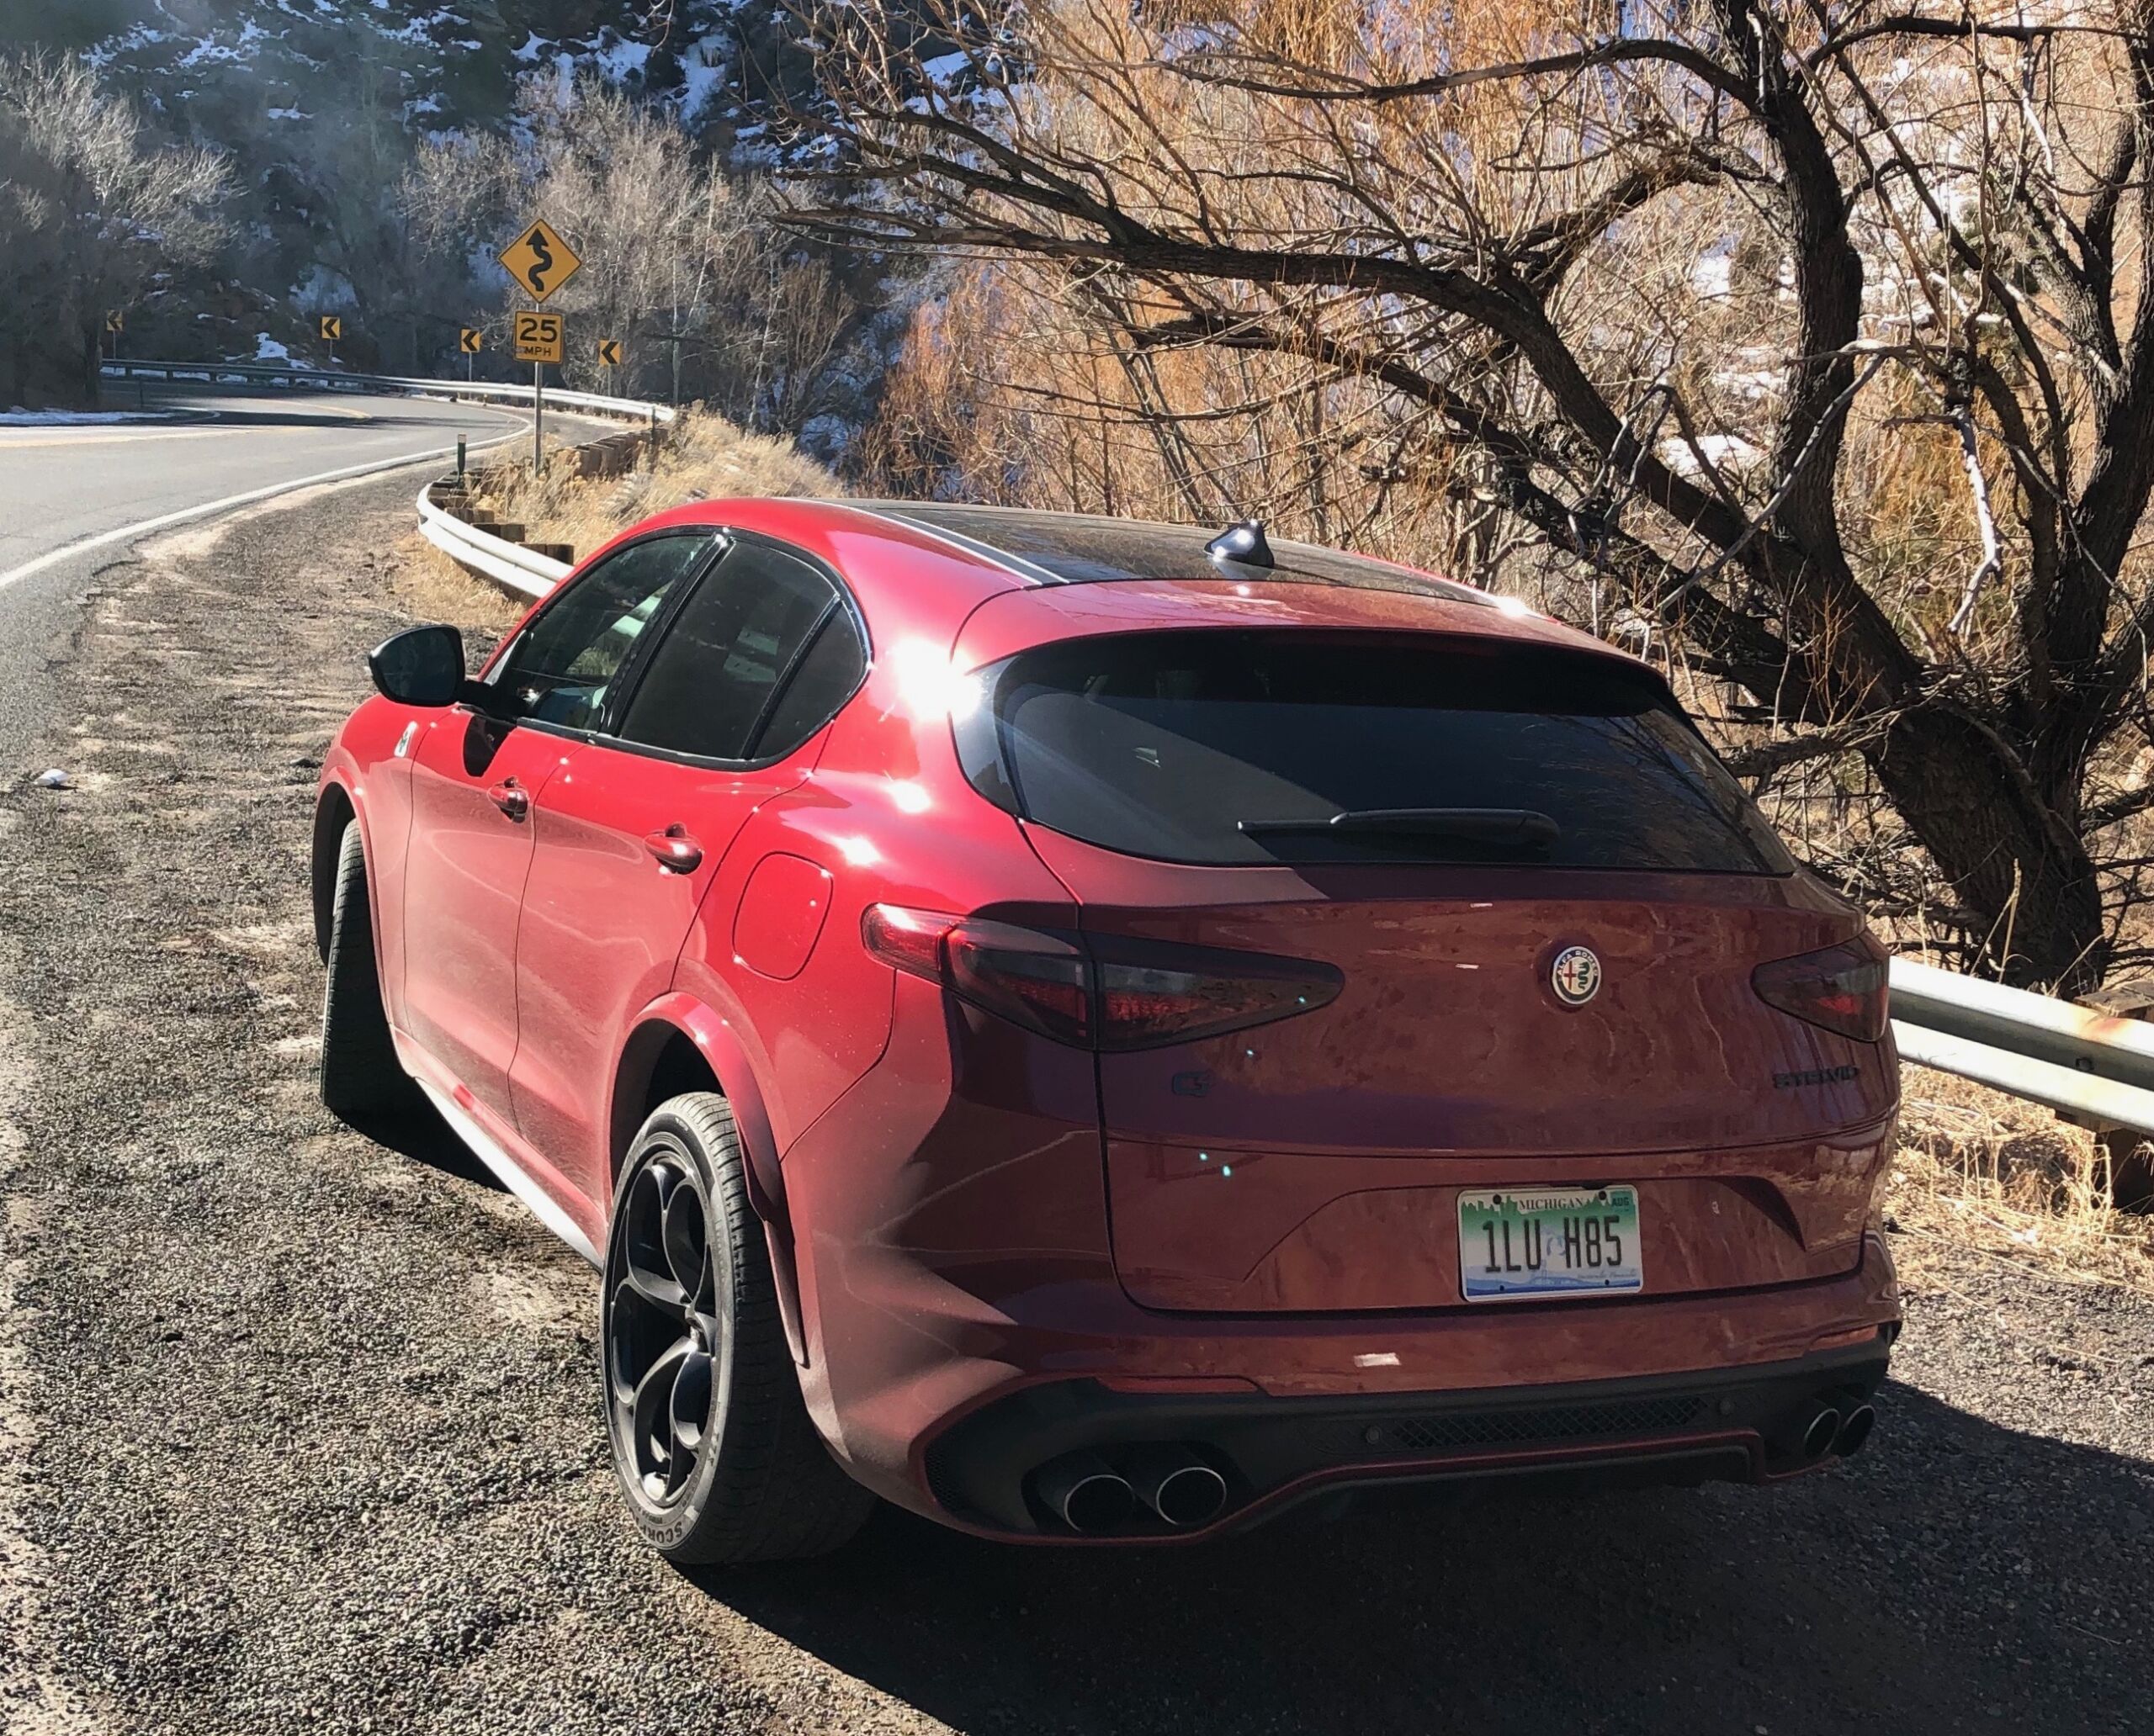
{"label": "red rear side door of the car, including its tinted window", "polygon": [[[605,1208],[614,1064],[754,810],[814,767],[859,683],[836,579],[735,536],[670,616],[633,691],[536,803],[517,946],[517,1126]],[[730,933],[730,924],[726,924]]]}

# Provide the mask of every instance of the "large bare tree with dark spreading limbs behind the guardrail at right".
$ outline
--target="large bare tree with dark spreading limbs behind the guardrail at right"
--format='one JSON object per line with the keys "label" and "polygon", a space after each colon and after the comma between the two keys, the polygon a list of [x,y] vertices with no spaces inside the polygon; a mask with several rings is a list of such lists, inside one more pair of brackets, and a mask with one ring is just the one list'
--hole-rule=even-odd
{"label": "large bare tree with dark spreading limbs behind the guardrail at right", "polygon": [[1995,969],[2124,956],[2104,864],[2154,806],[2107,782],[2154,629],[2148,0],[915,17],[812,15],[842,149],[803,228],[1030,261],[1131,355],[1353,386],[1402,435],[1383,465],[1557,551],[1801,743],[1781,775],[1857,756]]}

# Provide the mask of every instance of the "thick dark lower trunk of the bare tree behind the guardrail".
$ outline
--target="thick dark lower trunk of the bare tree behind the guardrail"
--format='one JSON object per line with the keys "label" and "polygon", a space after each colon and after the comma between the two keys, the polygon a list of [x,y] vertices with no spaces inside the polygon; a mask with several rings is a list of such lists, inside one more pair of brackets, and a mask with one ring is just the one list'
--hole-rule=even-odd
{"label": "thick dark lower trunk of the bare tree behind the guardrail", "polygon": [[1997,737],[1928,702],[1898,715],[1870,758],[1960,902],[1988,920],[1984,950],[2005,982],[2070,995],[2102,980],[2094,859]]}

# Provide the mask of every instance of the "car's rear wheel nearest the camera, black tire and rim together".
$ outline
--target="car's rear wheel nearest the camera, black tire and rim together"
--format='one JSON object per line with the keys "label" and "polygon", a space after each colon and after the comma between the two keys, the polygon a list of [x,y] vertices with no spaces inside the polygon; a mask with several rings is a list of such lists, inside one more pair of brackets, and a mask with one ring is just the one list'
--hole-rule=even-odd
{"label": "car's rear wheel nearest the camera, black tire and rim together", "polygon": [[614,1195],[601,1301],[614,1475],[668,1562],[827,1555],[875,1510],[823,1447],[726,1098],[661,1103]]}

